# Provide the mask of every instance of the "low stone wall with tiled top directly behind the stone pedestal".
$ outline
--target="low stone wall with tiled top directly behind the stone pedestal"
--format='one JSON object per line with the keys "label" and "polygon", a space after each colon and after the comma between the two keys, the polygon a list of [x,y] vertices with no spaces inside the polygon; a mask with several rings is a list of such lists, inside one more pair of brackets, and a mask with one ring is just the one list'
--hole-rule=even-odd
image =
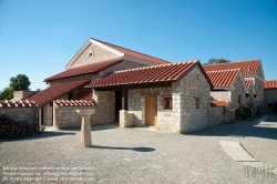
{"label": "low stone wall with tiled top directly behind the stone pedestal", "polygon": [[[76,113],[76,110],[94,109],[92,106],[57,106],[54,110],[54,127],[69,129],[81,127],[82,117]],[[91,119],[92,120],[92,119]],[[91,121],[91,123],[93,123]]]}

